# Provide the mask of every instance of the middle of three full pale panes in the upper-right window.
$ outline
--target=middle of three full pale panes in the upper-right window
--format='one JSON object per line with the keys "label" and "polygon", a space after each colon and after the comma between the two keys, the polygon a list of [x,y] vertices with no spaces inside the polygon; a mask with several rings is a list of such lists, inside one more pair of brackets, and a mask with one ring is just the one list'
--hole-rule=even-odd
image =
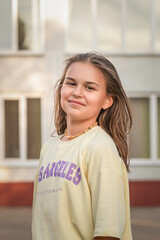
{"label": "middle of three full pale panes in the upper-right window", "polygon": [[101,51],[121,48],[121,1],[97,1],[97,44]]}

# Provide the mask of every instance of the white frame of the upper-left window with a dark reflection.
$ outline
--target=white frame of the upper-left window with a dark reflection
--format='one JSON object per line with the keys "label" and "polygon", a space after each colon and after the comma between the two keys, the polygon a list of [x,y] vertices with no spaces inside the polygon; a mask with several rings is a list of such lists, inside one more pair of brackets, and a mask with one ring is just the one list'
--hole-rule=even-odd
{"label": "white frame of the upper-left window with a dark reflection", "polygon": [[9,50],[0,49],[0,56],[18,55],[44,55],[45,53],[45,1],[39,0],[40,3],[40,49],[35,50],[20,50],[18,49],[18,0],[11,1],[12,15],[12,48]]}

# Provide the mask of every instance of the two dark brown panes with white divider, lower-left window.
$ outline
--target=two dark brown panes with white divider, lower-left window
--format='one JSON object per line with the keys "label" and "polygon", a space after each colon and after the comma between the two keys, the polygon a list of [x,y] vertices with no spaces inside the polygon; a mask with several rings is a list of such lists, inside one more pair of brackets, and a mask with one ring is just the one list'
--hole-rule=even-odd
{"label": "two dark brown panes with white divider, lower-left window", "polygon": [[[41,98],[4,98],[1,104],[4,106],[4,130],[0,131],[5,139],[2,157],[7,160],[38,159],[42,142]],[[2,119],[0,116],[0,121]]]}

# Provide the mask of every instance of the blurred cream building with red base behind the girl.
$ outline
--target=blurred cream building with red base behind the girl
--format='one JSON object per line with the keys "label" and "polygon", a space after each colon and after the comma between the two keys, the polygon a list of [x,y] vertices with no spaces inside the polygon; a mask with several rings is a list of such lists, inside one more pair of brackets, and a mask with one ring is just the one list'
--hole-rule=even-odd
{"label": "blurred cream building with red base behind the girl", "polygon": [[0,205],[31,205],[63,60],[97,51],[134,106],[132,205],[160,205],[160,1],[0,0]]}

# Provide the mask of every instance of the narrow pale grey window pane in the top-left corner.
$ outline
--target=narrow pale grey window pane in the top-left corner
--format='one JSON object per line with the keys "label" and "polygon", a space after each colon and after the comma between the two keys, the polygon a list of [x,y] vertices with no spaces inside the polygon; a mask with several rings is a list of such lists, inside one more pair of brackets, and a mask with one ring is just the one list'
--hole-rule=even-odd
{"label": "narrow pale grey window pane in the top-left corner", "polygon": [[12,49],[11,0],[0,0],[0,50]]}

